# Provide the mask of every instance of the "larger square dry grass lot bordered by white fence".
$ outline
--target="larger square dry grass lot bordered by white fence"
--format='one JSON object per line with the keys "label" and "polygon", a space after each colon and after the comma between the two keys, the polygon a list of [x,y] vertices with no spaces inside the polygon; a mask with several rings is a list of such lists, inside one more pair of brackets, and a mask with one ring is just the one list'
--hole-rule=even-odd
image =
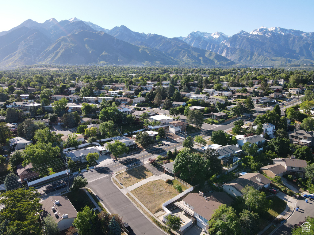
{"label": "larger square dry grass lot bordered by white fence", "polygon": [[179,194],[173,185],[169,185],[163,180],[150,181],[132,190],[131,193],[153,214],[162,208],[164,202]]}

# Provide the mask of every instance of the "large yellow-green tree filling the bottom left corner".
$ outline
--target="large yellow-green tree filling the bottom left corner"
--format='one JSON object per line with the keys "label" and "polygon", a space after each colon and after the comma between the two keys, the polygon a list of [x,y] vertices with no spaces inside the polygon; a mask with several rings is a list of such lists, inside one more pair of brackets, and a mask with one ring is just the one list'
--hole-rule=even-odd
{"label": "large yellow-green tree filling the bottom left corner", "polygon": [[15,231],[7,234],[42,234],[39,217],[42,210],[42,205],[39,203],[40,196],[33,187],[1,194],[0,203],[4,208],[1,209],[0,216],[9,221],[7,231]]}

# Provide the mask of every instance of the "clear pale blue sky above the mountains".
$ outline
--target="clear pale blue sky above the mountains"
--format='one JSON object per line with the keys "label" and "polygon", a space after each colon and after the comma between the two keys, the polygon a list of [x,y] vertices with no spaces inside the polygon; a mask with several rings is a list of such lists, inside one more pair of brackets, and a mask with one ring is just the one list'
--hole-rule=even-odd
{"label": "clear pale blue sky above the mountains", "polygon": [[192,31],[251,32],[265,26],[314,32],[314,1],[290,0],[10,0],[1,1],[0,32],[31,18],[43,23],[77,17],[105,29],[125,25],[145,34],[187,36]]}

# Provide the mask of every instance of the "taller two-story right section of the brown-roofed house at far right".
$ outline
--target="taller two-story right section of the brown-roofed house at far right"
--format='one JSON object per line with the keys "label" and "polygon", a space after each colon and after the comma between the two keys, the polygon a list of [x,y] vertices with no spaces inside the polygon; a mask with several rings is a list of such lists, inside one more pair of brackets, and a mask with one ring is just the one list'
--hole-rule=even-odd
{"label": "taller two-story right section of the brown-roofed house at far right", "polygon": [[306,160],[295,159],[295,157],[291,156],[290,158],[275,158],[273,163],[284,166],[289,175],[305,177]]}

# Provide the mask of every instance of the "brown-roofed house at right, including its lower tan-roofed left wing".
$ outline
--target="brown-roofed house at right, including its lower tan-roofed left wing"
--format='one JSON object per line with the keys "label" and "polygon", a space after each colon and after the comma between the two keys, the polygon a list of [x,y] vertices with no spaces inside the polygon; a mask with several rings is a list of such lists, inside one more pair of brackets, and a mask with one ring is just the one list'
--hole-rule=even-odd
{"label": "brown-roofed house at right, including its lower tan-roofed left wing", "polygon": [[275,158],[272,165],[263,166],[260,168],[262,173],[270,177],[283,176],[284,174],[305,176],[306,160],[291,158]]}

